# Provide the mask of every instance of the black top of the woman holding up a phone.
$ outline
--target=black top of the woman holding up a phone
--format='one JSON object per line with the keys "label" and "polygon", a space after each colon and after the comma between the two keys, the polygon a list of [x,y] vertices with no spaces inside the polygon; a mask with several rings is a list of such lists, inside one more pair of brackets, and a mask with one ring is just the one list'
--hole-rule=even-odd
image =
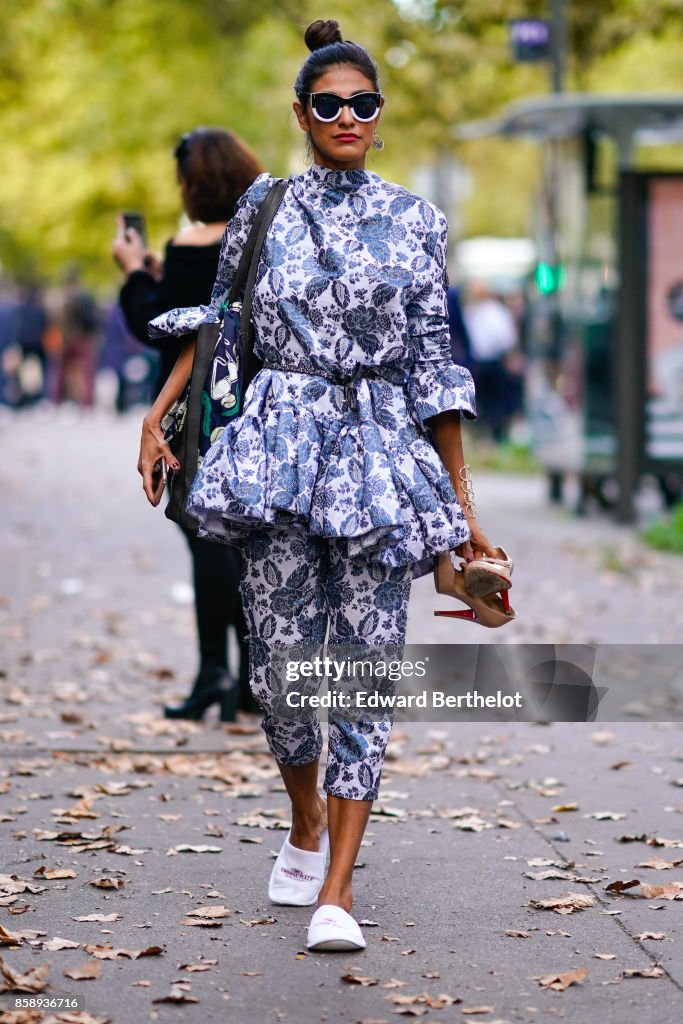
{"label": "black top of the woman holding up a phone", "polygon": [[161,352],[157,394],[184,347],[185,339],[166,337],[152,340],[147,324],[169,309],[208,303],[219,255],[220,242],[209,246],[178,246],[171,241],[166,246],[162,281],[155,281],[146,270],[134,270],[121,289],[119,301],[129,331],[145,345]]}

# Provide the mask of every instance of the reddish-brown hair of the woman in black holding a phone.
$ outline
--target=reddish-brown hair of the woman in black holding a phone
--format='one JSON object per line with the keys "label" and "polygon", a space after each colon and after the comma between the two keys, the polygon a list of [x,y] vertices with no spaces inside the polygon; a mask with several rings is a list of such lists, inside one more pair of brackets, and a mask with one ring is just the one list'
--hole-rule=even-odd
{"label": "reddish-brown hair of the woman in black holding a phone", "polygon": [[187,132],[173,156],[187,214],[205,223],[229,220],[240,197],[263,171],[249,146],[221,128]]}

